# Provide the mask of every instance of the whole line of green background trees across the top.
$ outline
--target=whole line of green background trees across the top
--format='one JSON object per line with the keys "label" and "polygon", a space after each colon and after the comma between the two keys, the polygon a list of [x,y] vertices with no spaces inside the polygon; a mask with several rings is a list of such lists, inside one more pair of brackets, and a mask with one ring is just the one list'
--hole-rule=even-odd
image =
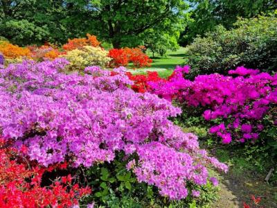
{"label": "whole line of green background trees across the top", "polygon": [[143,44],[163,55],[276,8],[276,0],[0,0],[0,36],[24,46],[91,33],[114,48]]}

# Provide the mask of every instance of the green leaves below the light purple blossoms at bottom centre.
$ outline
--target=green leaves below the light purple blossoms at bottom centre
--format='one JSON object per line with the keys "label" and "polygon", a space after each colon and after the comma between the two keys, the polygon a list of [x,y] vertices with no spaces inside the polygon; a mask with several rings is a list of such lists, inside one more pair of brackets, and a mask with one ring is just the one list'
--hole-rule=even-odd
{"label": "green leaves below the light purple blossoms at bottom centre", "polygon": [[84,198],[82,204],[93,201],[96,205],[107,207],[184,207],[196,200],[195,205],[202,207],[217,198],[218,188],[211,182],[202,187],[191,187],[193,191],[186,200],[163,198],[159,196],[157,187],[138,182],[136,175],[126,170],[129,160],[120,152],[113,162],[89,168],[85,175],[87,181],[91,181],[89,184],[93,186],[93,193]]}

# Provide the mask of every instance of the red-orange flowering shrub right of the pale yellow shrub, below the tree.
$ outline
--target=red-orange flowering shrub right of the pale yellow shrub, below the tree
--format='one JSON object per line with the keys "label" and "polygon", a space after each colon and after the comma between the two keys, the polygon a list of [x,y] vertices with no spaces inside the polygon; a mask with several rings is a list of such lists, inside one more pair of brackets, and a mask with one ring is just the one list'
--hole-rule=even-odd
{"label": "red-orange flowering shrub right of the pale yellow shrub, below the tree", "polygon": [[150,67],[152,60],[143,53],[142,48],[124,48],[111,49],[108,56],[112,58],[109,62],[110,67],[127,66],[129,62],[133,62],[135,67]]}

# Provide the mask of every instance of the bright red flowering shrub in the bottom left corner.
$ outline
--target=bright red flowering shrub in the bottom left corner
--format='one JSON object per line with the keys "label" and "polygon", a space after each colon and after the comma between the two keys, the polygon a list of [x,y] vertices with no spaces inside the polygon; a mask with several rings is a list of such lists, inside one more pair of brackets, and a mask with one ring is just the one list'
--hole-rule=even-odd
{"label": "bright red flowering shrub in the bottom left corner", "polygon": [[[25,147],[21,151],[26,152]],[[71,207],[78,205],[78,199],[91,192],[71,184],[71,175],[55,180],[49,187],[41,187],[42,176],[66,164],[44,168],[31,164],[20,157],[0,139],[0,207]]]}

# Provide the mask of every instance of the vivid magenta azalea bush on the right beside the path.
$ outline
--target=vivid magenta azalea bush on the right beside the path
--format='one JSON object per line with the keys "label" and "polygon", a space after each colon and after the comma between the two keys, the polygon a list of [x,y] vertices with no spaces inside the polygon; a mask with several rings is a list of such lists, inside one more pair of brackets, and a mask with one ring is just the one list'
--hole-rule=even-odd
{"label": "vivid magenta azalea bush on the right beside the path", "polygon": [[[168,80],[149,82],[154,94],[168,100],[177,99],[188,107],[204,109],[207,121],[221,119],[210,132],[222,138],[224,144],[232,139],[255,141],[264,128],[262,120],[277,104],[277,75],[238,67],[230,76],[218,73],[199,75],[190,81],[184,78],[189,67],[177,67]],[[277,125],[277,118],[274,123]]]}

